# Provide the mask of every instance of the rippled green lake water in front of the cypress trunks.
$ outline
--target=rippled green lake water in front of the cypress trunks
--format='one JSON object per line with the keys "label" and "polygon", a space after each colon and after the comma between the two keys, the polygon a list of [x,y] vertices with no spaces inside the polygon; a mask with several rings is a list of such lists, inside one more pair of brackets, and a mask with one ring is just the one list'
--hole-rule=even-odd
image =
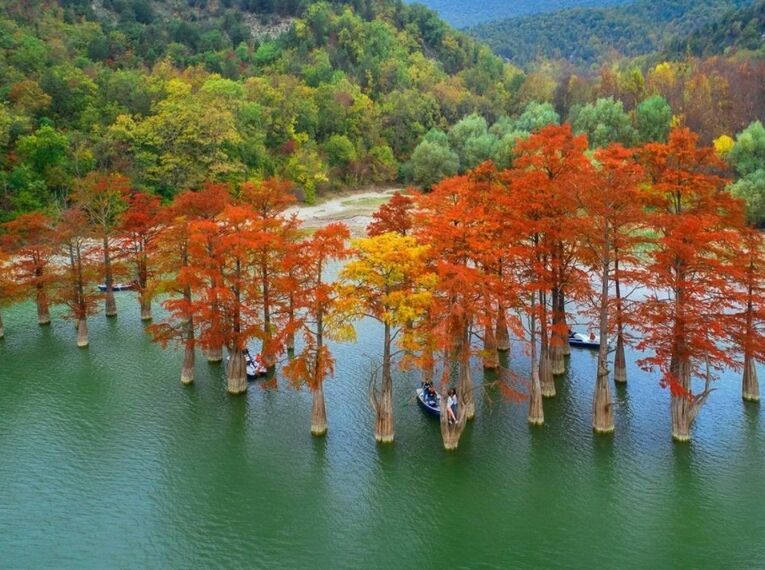
{"label": "rippled green lake water in front of the cypress trunks", "polygon": [[182,387],[180,353],[149,341],[131,294],[118,304],[87,350],[31,305],[4,315],[0,568],[765,568],[765,425],[737,373],[677,445],[668,393],[633,363],[616,433],[596,437],[595,355],[574,350],[544,427],[481,392],[451,454],[399,374],[396,443],[379,447],[374,323],[333,347],[316,439],[307,392],[232,397],[201,358]]}

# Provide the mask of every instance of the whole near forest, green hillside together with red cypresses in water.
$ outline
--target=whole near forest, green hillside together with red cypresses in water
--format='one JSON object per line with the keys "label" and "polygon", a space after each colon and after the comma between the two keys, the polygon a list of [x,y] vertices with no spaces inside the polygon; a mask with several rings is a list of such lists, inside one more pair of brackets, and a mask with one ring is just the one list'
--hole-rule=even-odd
{"label": "whole near forest, green hillside together with red cypresses in water", "polygon": [[[614,429],[625,345],[670,390],[677,440],[719,370],[759,399],[757,58],[523,72],[399,2],[94,6],[3,8],[0,305],[32,300],[41,325],[62,307],[85,348],[89,318],[116,316],[130,282],[151,337],[183,351],[182,383],[198,352],[228,354],[228,391],[245,392],[257,341],[269,382],[310,390],[315,435],[330,341],[363,318],[384,330],[379,442],[394,438],[396,367],[457,390],[447,449],[474,413],[475,358],[543,423],[574,306],[601,339],[595,431]],[[364,238],[287,213],[391,181],[413,187]],[[511,339],[526,378],[499,364]]]}

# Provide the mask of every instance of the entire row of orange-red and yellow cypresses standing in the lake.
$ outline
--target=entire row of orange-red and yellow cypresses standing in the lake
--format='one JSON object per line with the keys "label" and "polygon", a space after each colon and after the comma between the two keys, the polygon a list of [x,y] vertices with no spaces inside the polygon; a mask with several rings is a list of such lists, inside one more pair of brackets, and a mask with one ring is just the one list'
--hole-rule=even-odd
{"label": "entire row of orange-red and yellow cypresses standing in the lake", "polygon": [[[88,319],[101,308],[115,316],[114,283],[131,280],[142,319],[163,306],[148,331],[183,351],[183,384],[203,355],[225,358],[228,391],[246,392],[245,350],[257,342],[270,382],[311,391],[316,435],[327,431],[329,341],[353,341],[363,318],[382,331],[379,363],[359,378],[378,442],[394,439],[397,367],[419,370],[444,398],[456,388],[458,421],[441,419],[447,449],[475,415],[475,359],[527,402],[531,424],[544,423],[573,307],[600,335],[596,432],[614,430],[610,376],[627,381],[626,346],[669,390],[678,441],[722,369],[740,370],[743,398],[759,400],[763,239],[714,147],[676,128],[666,143],[591,151],[566,124],[519,140],[513,156],[507,168],[487,161],[430,192],[395,195],[350,242],[343,224],[301,230],[292,184],[278,178],[206,183],[162,203],[123,175],[90,174],[56,216],[3,225],[0,299],[31,298],[41,325],[51,304],[64,306],[86,347]],[[500,364],[512,342],[527,349],[521,380]]]}

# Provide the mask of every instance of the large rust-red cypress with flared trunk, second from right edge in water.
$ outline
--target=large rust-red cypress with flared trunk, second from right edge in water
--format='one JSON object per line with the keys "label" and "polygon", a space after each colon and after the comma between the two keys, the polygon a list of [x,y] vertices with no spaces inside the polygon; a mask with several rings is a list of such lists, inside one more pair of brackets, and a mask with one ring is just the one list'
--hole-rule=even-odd
{"label": "large rust-red cypress with flared trunk, second from right edge in water", "polygon": [[[672,397],[672,436],[688,441],[693,422],[712,392],[714,370],[734,364],[718,339],[731,309],[732,252],[743,225],[742,205],[726,190],[713,148],[698,146],[688,129],[667,144],[642,152],[649,173],[649,222],[657,234],[642,275],[649,293],[639,309],[639,349],[653,356],[639,364],[659,370]],[[703,381],[695,391],[693,379]]]}

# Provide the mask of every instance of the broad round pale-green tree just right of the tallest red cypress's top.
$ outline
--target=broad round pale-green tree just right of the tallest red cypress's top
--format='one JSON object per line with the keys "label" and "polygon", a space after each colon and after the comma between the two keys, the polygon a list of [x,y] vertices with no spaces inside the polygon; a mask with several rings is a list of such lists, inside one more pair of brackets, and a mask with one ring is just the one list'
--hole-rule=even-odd
{"label": "broad round pale-green tree just right of the tallest red cypress's top", "polygon": [[586,134],[593,148],[615,142],[631,146],[637,140],[637,132],[630,116],[624,112],[624,105],[610,97],[572,109],[570,120],[574,131]]}

